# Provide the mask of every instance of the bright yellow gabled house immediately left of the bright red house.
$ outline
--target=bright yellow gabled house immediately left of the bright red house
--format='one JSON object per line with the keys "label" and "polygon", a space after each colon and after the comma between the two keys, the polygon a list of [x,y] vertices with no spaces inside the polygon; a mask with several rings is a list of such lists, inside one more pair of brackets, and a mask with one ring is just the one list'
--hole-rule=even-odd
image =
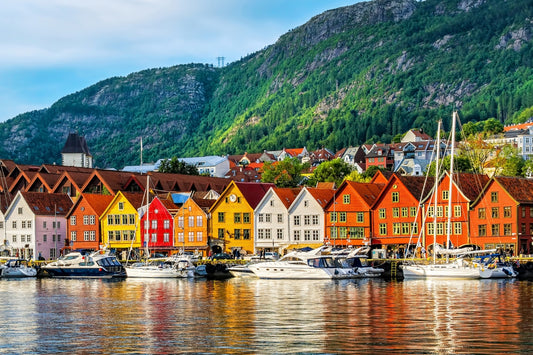
{"label": "bright yellow gabled house immediately left of the bright red house", "polygon": [[[127,251],[141,248],[139,214],[143,194],[119,191],[100,216],[102,244],[125,259]],[[122,252],[122,254],[120,254]]]}

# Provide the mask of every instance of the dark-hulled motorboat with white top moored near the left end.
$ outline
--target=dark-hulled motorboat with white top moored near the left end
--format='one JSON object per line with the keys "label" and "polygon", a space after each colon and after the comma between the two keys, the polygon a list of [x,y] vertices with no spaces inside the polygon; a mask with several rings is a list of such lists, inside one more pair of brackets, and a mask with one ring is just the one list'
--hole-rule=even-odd
{"label": "dark-hulled motorboat with white top moored near the left end", "polygon": [[124,266],[109,251],[90,254],[73,251],[56,261],[43,265],[41,270],[51,277],[62,278],[119,278],[125,277]]}

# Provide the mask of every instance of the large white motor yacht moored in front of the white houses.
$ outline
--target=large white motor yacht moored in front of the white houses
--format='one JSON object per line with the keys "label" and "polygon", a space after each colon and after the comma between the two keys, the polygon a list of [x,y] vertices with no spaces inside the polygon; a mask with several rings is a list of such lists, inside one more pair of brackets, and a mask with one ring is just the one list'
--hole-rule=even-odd
{"label": "large white motor yacht moored in front of the white houses", "polygon": [[293,251],[277,261],[251,264],[248,268],[260,279],[346,279],[356,278],[351,267],[336,264],[332,255],[322,255],[325,247],[308,252]]}

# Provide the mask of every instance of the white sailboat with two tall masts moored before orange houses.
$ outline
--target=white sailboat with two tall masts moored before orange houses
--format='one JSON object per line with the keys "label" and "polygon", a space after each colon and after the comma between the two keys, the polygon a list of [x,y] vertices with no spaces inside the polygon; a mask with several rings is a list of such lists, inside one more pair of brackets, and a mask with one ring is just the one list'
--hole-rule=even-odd
{"label": "white sailboat with two tall masts moored before orange houses", "polygon": [[[452,211],[452,185],[453,185],[453,163],[455,153],[455,125],[457,120],[457,112],[452,116],[452,129],[451,129],[451,151],[450,151],[450,184],[448,187],[448,220],[446,228],[446,246],[450,245],[450,233],[451,233],[451,211]],[[447,249],[440,249],[439,252],[445,255],[445,260],[437,263],[437,241],[436,241],[436,204],[437,204],[437,189],[439,178],[439,159],[440,159],[440,130],[441,122],[439,121],[439,128],[437,131],[437,154],[435,158],[435,185],[433,190],[433,196],[435,197],[435,209],[434,209],[434,223],[435,228],[433,234],[433,262],[429,264],[422,264],[417,262],[406,262],[401,266],[403,276],[406,279],[410,278],[451,278],[451,279],[479,279],[480,269],[479,265],[470,262],[461,255],[456,255],[455,258],[450,259],[452,251]],[[457,250],[454,250],[457,254]],[[462,253],[468,253],[467,250],[463,250]]]}

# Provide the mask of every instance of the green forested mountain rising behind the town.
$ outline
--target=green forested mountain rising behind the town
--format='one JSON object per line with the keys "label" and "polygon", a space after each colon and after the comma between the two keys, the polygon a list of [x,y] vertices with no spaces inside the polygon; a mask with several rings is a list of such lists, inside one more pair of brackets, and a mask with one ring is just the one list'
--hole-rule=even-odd
{"label": "green forested mountain rising behind the town", "polygon": [[531,0],[374,0],[326,11],[223,68],[114,77],[0,124],[0,157],[60,161],[69,132],[96,165],[283,147],[337,150],[533,106]]}

